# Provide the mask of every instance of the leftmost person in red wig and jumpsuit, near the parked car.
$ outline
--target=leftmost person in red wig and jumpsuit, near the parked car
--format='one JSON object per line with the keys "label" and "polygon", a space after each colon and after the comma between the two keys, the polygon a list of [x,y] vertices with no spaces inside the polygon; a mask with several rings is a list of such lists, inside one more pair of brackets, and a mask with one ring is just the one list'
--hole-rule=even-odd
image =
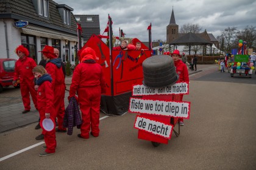
{"label": "leftmost person in red wig and jumpsuit, near the parked car", "polygon": [[18,46],[15,52],[19,56],[19,60],[15,63],[13,84],[16,84],[16,81],[20,78],[21,97],[25,108],[22,113],[26,114],[30,111],[29,94],[32,97],[35,109],[37,109],[37,92],[34,88],[34,75],[32,73],[32,69],[37,64],[29,57],[29,50],[22,45]]}

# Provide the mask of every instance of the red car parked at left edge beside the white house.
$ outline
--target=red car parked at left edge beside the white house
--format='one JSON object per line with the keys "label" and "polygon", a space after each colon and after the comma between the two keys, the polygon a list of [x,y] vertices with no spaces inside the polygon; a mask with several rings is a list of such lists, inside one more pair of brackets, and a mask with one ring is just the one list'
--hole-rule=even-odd
{"label": "red car parked at left edge beside the white house", "polygon": [[[0,58],[0,93],[4,87],[13,86],[15,63],[16,59]],[[18,88],[20,84],[17,83],[14,87]]]}

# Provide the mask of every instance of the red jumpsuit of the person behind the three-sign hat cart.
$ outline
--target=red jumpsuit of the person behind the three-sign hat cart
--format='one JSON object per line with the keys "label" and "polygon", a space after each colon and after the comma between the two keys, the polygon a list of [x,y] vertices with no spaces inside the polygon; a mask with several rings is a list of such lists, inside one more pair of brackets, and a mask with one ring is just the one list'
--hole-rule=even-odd
{"label": "red jumpsuit of the person behind the three-sign hat cart", "polygon": [[[174,61],[174,66],[176,67],[176,72],[179,75],[179,80],[177,80],[176,83],[188,83],[190,82],[190,79],[188,78],[188,68],[186,64],[182,62],[182,60]],[[180,95],[180,101],[183,100],[183,95]],[[180,121],[183,122],[183,118],[180,118]]]}

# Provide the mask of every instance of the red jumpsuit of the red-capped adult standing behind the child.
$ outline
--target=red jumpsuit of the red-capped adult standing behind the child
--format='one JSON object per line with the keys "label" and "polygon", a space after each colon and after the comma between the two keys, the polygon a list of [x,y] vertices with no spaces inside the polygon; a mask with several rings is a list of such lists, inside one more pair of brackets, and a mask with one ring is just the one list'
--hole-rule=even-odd
{"label": "red jumpsuit of the red-capped adult standing behind the child", "polygon": [[63,118],[65,115],[65,78],[63,74],[62,67],[58,68],[55,64],[48,62],[46,63],[45,69],[52,77],[52,90],[54,92],[54,107],[58,118],[58,129],[66,131],[63,127]]}

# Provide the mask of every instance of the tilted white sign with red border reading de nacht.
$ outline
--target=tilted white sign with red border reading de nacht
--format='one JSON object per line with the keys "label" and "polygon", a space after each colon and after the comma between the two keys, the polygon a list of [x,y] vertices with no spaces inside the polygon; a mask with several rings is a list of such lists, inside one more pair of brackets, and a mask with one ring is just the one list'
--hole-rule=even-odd
{"label": "tilted white sign with red border reading de nacht", "polygon": [[150,120],[138,115],[134,123],[134,128],[149,132],[154,135],[159,135],[164,138],[171,138],[172,125]]}

